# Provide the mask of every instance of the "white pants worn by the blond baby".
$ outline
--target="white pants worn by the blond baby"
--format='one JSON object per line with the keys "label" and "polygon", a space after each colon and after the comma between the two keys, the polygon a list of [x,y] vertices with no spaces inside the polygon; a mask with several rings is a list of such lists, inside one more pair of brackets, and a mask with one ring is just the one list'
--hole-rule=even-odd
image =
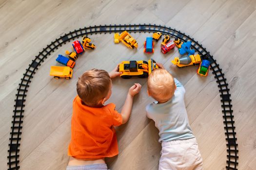
{"label": "white pants worn by the blond baby", "polygon": [[158,170],[203,170],[197,139],[162,142]]}

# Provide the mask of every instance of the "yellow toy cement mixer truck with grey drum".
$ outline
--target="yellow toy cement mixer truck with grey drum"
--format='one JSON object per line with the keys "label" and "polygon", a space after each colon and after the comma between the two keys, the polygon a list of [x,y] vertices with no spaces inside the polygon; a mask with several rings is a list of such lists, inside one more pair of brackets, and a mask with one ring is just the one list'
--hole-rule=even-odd
{"label": "yellow toy cement mixer truck with grey drum", "polygon": [[184,55],[181,56],[180,58],[175,57],[174,60],[172,60],[172,63],[174,65],[177,65],[178,68],[183,68],[186,66],[191,66],[191,65],[197,65],[201,62],[201,57],[199,54],[196,55]]}

